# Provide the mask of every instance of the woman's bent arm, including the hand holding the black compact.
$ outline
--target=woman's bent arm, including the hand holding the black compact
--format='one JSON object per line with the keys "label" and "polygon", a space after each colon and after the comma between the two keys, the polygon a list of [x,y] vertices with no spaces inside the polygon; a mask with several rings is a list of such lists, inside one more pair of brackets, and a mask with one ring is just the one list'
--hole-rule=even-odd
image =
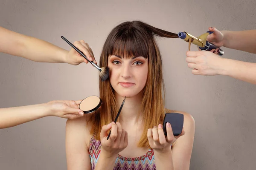
{"label": "woman's bent arm, including the hand holding the black compact", "polygon": [[156,168],[157,170],[189,170],[195,121],[188,113],[179,111],[169,111],[169,113],[184,115],[183,130],[179,136],[173,136],[172,126],[169,123],[166,123],[167,136],[164,135],[161,124],[153,129],[148,129],[148,141],[151,148],[154,149]]}

